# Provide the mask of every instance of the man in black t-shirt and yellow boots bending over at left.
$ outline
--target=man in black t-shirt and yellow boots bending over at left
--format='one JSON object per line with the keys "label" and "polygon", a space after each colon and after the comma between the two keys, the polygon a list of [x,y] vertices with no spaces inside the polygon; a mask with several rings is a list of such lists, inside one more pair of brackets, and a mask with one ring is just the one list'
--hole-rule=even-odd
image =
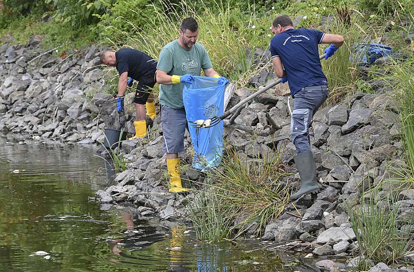
{"label": "man in black t-shirt and yellow boots bending over at left", "polygon": [[134,121],[135,136],[129,139],[142,138],[146,135],[145,107],[146,114],[154,119],[155,113],[154,100],[150,97],[151,88],[155,85],[155,74],[157,71],[157,61],[147,54],[129,48],[123,48],[116,52],[103,51],[101,53],[101,63],[116,67],[119,73],[117,111],[124,111],[124,97],[127,90],[128,77],[138,81],[135,92],[134,106],[137,114],[137,121]]}

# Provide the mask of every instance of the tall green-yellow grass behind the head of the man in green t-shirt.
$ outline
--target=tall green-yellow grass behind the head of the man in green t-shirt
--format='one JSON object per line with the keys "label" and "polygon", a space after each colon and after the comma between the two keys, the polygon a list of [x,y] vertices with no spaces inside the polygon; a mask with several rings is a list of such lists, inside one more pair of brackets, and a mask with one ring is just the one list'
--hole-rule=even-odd
{"label": "tall green-yellow grass behind the head of the man in green t-shirt", "polygon": [[[152,7],[151,14],[148,14],[149,9],[145,9],[146,13],[133,10],[136,16],[146,18],[148,23],[143,29],[132,21],[126,21],[134,33],[123,33],[128,46],[158,58],[161,49],[178,37],[181,21],[185,17],[194,17],[200,30],[197,42],[206,47],[213,67],[221,75],[245,85],[253,74],[268,63],[266,60],[257,65],[251,56],[246,55],[247,49],[254,50],[259,45],[256,28],[252,26],[254,18],[246,18],[246,15],[232,9],[228,1],[227,4],[215,2],[212,7],[204,3],[196,7],[195,2],[186,1],[175,4],[160,0],[159,3],[149,5]],[[260,39],[261,44],[268,44],[270,40],[267,39]],[[110,42],[116,44],[116,41]]]}

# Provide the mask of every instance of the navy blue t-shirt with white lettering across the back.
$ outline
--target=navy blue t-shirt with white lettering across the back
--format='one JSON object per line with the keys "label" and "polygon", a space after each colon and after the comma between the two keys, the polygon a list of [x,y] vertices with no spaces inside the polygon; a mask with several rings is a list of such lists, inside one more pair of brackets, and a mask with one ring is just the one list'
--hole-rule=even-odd
{"label": "navy blue t-shirt with white lettering across the back", "polygon": [[291,28],[271,39],[271,57],[282,60],[292,97],[307,85],[326,81],[318,51],[323,35],[317,30]]}

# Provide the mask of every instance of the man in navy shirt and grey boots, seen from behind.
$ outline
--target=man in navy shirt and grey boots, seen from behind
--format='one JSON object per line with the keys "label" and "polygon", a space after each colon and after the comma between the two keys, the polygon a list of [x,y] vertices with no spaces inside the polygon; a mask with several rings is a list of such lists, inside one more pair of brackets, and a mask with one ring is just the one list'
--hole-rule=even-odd
{"label": "man in navy shirt and grey boots, seen from behind", "polygon": [[290,138],[296,147],[294,161],[302,184],[299,191],[290,197],[294,201],[319,190],[309,142],[309,126],[319,106],[328,98],[328,82],[322,72],[318,44],[332,43],[325,50],[325,59],[328,59],[344,43],[344,38],[317,30],[294,29],[287,15],[276,17],[271,31],[274,34],[270,44],[274,71],[282,83],[288,82],[295,99]]}

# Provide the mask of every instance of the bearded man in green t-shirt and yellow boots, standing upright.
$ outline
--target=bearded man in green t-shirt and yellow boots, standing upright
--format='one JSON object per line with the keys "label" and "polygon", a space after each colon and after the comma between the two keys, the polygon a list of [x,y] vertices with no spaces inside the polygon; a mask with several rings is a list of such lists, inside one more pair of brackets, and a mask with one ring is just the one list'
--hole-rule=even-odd
{"label": "bearded man in green t-shirt and yellow boots, standing upright", "polygon": [[[224,77],[213,69],[206,48],[196,43],[198,37],[197,21],[188,17],[181,22],[178,39],[170,42],[161,50],[157,65],[159,83],[159,104],[161,105],[161,123],[164,136],[163,151],[167,153],[167,168],[170,173],[170,192],[188,192],[183,188],[180,177],[179,152],[184,151],[184,133],[187,126],[183,103],[184,83],[191,83],[194,76],[201,74],[219,78]],[[221,82],[219,82],[221,83]]]}

